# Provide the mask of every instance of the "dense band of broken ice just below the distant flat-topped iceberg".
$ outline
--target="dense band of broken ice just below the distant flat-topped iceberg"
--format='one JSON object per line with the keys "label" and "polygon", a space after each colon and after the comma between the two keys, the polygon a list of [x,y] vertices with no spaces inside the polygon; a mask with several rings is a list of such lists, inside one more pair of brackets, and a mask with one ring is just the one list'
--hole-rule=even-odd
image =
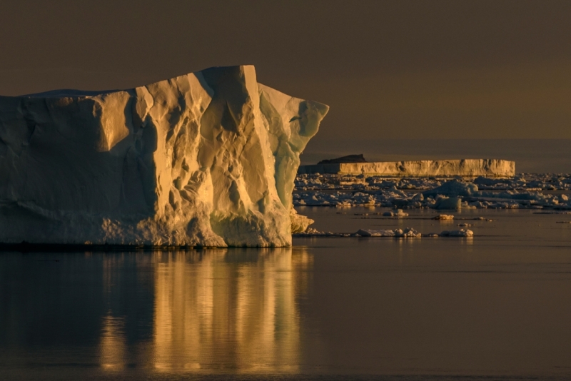
{"label": "dense band of broken ice just below the distant flat-topped iceberg", "polygon": [[298,175],[293,205],[407,208],[570,209],[571,175],[513,178],[386,178]]}

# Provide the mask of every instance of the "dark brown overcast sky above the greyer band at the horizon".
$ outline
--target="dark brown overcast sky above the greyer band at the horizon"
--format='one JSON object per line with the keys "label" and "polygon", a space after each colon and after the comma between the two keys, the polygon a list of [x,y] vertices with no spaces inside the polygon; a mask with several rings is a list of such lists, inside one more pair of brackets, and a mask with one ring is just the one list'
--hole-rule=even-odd
{"label": "dark brown overcast sky above the greyer band at the horizon", "polygon": [[3,1],[0,94],[209,66],[331,106],[317,141],[571,138],[571,1]]}

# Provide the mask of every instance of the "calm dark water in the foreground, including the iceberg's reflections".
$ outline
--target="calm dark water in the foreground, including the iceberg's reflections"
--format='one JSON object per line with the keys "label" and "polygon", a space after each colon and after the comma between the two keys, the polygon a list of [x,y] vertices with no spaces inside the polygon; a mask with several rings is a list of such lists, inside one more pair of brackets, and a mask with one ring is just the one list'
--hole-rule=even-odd
{"label": "calm dark water in the foreground, including the iceberg's reflections", "polygon": [[0,253],[0,379],[567,379],[571,216],[487,213],[472,240]]}

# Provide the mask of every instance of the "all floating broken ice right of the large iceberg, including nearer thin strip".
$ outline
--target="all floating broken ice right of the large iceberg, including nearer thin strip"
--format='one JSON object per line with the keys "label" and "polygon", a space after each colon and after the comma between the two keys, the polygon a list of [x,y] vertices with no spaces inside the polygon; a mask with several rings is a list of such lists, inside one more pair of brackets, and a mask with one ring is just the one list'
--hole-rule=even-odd
{"label": "all floating broken ice right of the large iceberg, including nearer thin strip", "polygon": [[[407,220],[410,210],[434,210],[423,219],[454,220],[461,210],[531,209],[535,214],[571,214],[571,174],[520,173],[509,178],[483,176],[463,178],[394,178],[339,174],[298,174],[293,204],[298,207],[388,208],[383,212],[356,213],[367,218]],[[342,213],[342,212],[338,212]],[[346,214],[343,212],[342,214]],[[418,219],[418,217],[415,217]],[[394,230],[360,229],[355,233],[332,233],[308,228],[295,236],[314,237],[463,237],[474,236],[473,221],[459,218],[458,230],[420,233],[413,228]],[[492,220],[475,217],[473,220]],[[474,221],[475,222],[475,221]],[[568,223],[558,221],[557,223]]]}

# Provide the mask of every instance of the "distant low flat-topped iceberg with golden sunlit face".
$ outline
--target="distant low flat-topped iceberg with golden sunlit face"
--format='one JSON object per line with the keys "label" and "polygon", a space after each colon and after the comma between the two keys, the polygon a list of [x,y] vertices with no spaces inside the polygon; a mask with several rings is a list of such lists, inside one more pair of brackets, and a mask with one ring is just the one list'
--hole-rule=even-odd
{"label": "distant low flat-topped iceberg with golden sunlit face", "polygon": [[515,162],[498,159],[386,161],[376,163],[328,163],[300,166],[302,174],[338,174],[367,176],[515,176]]}

